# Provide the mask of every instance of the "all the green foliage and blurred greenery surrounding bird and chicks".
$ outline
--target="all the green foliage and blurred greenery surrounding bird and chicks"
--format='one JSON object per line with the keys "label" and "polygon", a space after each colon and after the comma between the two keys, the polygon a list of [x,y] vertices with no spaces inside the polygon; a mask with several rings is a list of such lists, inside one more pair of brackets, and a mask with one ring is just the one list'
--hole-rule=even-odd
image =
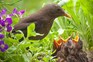
{"label": "all the green foliage and blurred greenery surrounding bird and chicks", "polygon": [[[41,8],[43,4],[49,2],[58,3],[60,0],[4,0],[0,1],[0,9],[7,8],[8,12],[15,7],[25,9],[24,16],[29,15]],[[33,3],[34,2],[34,3]],[[27,4],[27,5],[26,5]],[[32,23],[27,28],[27,38],[22,33],[11,34],[12,37],[6,35],[5,43],[9,45],[9,49],[0,52],[0,62],[55,62],[51,56],[53,48],[53,40],[59,36],[67,38],[70,35],[79,34],[83,40],[85,49],[93,48],[93,1],[92,0],[70,0],[62,7],[72,16],[72,19],[59,17],[51,28],[47,37],[42,40],[28,40],[29,36],[43,35],[36,33],[35,24]],[[13,26],[19,22],[19,18],[13,17]],[[6,33],[8,34],[8,33]],[[21,38],[23,41],[19,42]],[[29,50],[26,48],[29,47]],[[30,52],[29,52],[30,51]]]}

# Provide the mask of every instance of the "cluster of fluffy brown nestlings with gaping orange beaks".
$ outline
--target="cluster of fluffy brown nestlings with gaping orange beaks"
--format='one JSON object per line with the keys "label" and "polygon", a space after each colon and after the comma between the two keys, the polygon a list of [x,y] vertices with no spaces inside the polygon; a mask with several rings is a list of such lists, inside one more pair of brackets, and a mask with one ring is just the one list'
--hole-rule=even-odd
{"label": "cluster of fluffy brown nestlings with gaping orange beaks", "polygon": [[83,42],[76,36],[72,39],[70,36],[66,40],[54,40],[53,54],[57,58],[57,62],[88,62],[87,54],[83,51]]}

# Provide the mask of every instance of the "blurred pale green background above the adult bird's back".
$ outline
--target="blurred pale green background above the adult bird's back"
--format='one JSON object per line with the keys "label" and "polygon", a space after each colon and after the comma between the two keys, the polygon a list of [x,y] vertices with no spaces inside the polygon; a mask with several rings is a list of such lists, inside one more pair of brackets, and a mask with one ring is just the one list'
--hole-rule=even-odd
{"label": "blurred pale green background above the adult bird's back", "polygon": [[40,9],[44,4],[52,3],[53,0],[0,0],[0,8],[7,8],[12,11],[14,8],[24,9],[26,12],[33,13]]}

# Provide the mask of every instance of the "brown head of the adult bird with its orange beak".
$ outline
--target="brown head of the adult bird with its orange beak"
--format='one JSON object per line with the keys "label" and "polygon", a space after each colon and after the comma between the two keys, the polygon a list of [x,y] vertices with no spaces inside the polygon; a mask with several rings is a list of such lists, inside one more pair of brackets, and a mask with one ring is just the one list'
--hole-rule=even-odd
{"label": "brown head of the adult bird with its orange beak", "polygon": [[71,18],[71,16],[65,13],[64,10],[57,4],[47,4],[44,6],[43,10],[46,11],[46,14],[53,17],[66,16]]}

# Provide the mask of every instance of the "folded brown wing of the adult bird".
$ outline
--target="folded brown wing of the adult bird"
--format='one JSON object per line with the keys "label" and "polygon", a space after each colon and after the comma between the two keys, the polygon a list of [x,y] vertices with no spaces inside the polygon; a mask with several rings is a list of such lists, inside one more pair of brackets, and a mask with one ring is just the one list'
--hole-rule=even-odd
{"label": "folded brown wing of the adult bird", "polygon": [[37,20],[33,17],[22,18],[20,22],[14,26],[14,31],[25,30],[31,23],[37,23]]}

